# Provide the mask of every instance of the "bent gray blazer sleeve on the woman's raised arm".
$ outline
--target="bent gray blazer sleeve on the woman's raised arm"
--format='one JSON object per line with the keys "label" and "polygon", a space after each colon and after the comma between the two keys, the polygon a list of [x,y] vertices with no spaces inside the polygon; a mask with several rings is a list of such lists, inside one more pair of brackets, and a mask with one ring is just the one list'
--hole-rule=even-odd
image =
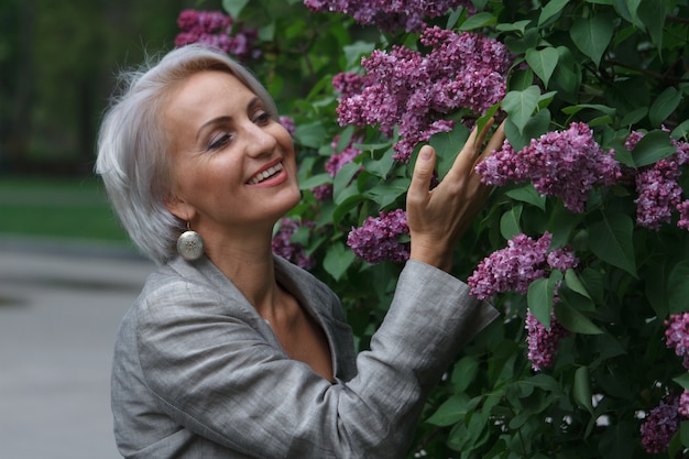
{"label": "bent gray blazer sleeve on the woman's raised arm", "polygon": [[400,458],[428,391],[460,346],[497,316],[468,291],[407,262],[357,376],[330,384],[273,346],[250,314],[223,314],[217,293],[175,283],[140,309],[140,364],[175,422],[245,456]]}

